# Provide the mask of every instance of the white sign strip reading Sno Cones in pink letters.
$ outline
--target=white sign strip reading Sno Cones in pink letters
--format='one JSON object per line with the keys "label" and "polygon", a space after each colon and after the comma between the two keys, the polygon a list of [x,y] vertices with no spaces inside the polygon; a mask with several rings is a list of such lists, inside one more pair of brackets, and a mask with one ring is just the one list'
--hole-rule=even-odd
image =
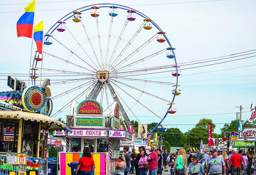
{"label": "white sign strip reading Sno Cones in pink letters", "polygon": [[73,129],[73,133],[68,133],[68,137],[106,137],[107,130],[96,129]]}

